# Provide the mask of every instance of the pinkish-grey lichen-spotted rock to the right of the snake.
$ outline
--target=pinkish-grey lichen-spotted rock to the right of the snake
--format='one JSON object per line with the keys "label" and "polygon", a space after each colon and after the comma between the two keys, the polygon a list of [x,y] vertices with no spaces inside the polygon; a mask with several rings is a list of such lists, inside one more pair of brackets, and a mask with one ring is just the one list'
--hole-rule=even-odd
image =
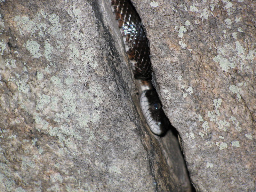
{"label": "pinkish-grey lichen-spotted rock to the right of the snake", "polygon": [[255,1],[132,2],[196,191],[256,191]]}

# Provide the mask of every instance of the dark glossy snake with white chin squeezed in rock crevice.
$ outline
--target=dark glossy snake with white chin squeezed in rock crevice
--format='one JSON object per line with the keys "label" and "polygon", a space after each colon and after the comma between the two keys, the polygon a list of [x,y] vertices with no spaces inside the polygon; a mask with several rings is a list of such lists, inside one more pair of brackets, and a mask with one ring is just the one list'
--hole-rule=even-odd
{"label": "dark glossy snake with white chin squeezed in rock crevice", "polygon": [[109,2],[122,34],[124,49],[139,90],[142,114],[151,132],[163,135],[170,127],[170,121],[152,84],[150,50],[140,17],[130,0],[109,0]]}

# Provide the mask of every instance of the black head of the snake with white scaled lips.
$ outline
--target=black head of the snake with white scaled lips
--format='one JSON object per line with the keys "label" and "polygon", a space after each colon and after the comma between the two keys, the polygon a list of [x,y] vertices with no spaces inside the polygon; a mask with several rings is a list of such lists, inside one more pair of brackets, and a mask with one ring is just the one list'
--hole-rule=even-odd
{"label": "black head of the snake with white scaled lips", "polygon": [[150,130],[156,135],[164,134],[170,122],[155,90],[145,90],[141,93],[140,107]]}

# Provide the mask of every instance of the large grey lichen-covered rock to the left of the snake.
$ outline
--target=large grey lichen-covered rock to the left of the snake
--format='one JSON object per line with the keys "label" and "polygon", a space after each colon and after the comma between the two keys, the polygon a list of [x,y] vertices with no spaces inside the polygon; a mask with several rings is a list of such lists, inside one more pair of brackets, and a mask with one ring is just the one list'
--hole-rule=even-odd
{"label": "large grey lichen-covered rock to the left of the snake", "polygon": [[191,191],[176,137],[141,121],[106,1],[2,0],[0,14],[1,191]]}

